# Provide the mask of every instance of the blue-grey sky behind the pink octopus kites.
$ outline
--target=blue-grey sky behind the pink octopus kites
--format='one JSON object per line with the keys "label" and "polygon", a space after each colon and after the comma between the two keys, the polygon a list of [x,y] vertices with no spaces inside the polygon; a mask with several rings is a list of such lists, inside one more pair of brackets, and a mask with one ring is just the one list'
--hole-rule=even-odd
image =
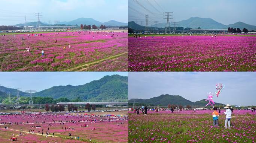
{"label": "blue-grey sky behind the pink octopus kites", "polygon": [[170,94],[195,102],[205,99],[208,92],[216,92],[216,83],[224,83],[214,102],[256,105],[255,72],[129,72],[128,79],[129,99]]}

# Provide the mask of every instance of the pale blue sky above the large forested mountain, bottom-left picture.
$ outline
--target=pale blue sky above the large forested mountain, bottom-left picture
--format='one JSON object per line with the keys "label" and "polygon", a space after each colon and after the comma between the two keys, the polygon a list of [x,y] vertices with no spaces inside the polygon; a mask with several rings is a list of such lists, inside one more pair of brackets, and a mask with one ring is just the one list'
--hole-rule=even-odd
{"label": "pale blue sky above the large forested mountain, bottom-left picture", "polygon": [[128,76],[127,72],[0,72],[0,84],[11,88],[22,88],[21,91],[26,89],[41,91],[59,85],[84,85],[113,74]]}

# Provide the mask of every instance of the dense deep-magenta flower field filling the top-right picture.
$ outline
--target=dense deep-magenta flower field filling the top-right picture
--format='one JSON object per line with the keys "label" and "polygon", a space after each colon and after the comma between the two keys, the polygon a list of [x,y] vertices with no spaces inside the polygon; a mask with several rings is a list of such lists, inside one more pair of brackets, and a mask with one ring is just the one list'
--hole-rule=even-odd
{"label": "dense deep-magenta flower field filling the top-right picture", "polygon": [[256,36],[129,36],[128,42],[128,71],[256,71]]}

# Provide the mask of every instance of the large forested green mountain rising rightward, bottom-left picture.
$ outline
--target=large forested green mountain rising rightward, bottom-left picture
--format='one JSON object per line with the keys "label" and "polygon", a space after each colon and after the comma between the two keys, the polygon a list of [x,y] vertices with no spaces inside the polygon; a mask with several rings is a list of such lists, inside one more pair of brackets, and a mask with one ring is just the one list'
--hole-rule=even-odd
{"label": "large forested green mountain rising rightward, bottom-left picture", "polygon": [[127,101],[128,77],[127,76],[104,76],[99,80],[79,86],[54,86],[49,89],[33,93],[33,96],[76,99],[83,101]]}

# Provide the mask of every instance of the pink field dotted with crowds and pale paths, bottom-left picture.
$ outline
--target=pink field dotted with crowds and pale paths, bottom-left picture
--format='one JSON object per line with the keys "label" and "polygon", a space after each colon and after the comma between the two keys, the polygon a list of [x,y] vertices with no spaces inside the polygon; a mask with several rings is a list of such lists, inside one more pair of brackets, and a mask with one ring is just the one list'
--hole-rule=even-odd
{"label": "pink field dotted with crowds and pale paths, bottom-left picture", "polygon": [[[10,137],[13,136],[17,137],[17,143],[89,143],[90,139],[92,143],[126,143],[128,140],[127,116],[117,114],[23,114],[1,115],[0,119],[0,133],[3,135],[0,138],[1,143],[11,142]],[[85,127],[86,125],[88,127]],[[22,135],[18,135],[19,133]],[[79,140],[75,139],[78,136]]]}

